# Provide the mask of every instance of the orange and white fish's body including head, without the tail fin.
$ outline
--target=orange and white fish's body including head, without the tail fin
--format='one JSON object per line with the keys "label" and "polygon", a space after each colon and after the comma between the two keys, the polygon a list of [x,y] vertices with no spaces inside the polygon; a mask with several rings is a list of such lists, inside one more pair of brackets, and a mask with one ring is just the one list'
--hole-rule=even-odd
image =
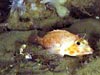
{"label": "orange and white fish's body including head, without the tail fin", "polygon": [[82,56],[93,53],[87,40],[66,30],[50,31],[44,37],[38,38],[38,42],[50,53],[60,56]]}

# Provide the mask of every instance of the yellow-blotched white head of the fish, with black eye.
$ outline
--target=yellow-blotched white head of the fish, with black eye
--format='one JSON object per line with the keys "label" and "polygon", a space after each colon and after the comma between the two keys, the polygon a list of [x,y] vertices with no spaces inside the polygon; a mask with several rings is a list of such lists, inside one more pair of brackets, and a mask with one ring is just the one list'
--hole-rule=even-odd
{"label": "yellow-blotched white head of the fish, with black eye", "polygon": [[83,56],[92,53],[93,49],[90,47],[88,41],[83,38],[75,40],[75,42],[65,50],[65,54],[69,56]]}

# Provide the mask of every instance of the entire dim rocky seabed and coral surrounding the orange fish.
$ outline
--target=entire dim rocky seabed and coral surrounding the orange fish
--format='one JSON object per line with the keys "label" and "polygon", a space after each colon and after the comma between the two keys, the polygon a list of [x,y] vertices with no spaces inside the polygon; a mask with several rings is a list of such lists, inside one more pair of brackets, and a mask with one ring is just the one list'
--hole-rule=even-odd
{"label": "entire dim rocky seabed and coral surrounding the orange fish", "polygon": [[[86,34],[93,54],[62,58],[33,42],[55,29]],[[0,0],[0,75],[100,75],[100,0]]]}

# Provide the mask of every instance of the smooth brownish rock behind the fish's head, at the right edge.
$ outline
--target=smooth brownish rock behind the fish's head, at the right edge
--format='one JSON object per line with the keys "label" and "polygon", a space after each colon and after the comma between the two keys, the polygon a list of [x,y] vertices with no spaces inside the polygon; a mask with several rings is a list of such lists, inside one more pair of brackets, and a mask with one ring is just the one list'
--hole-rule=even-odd
{"label": "smooth brownish rock behind the fish's head, at the right edge", "polygon": [[86,34],[92,34],[100,32],[100,21],[96,19],[83,19],[76,21],[70,28],[68,28],[69,31],[73,33],[86,33]]}

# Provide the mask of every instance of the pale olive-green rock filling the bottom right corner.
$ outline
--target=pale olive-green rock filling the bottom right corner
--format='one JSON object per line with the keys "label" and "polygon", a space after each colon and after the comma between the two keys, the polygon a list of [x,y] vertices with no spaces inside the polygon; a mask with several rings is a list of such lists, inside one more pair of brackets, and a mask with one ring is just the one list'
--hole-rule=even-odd
{"label": "pale olive-green rock filling the bottom right corner", "polygon": [[92,62],[79,69],[75,75],[100,75],[100,58],[92,60]]}

